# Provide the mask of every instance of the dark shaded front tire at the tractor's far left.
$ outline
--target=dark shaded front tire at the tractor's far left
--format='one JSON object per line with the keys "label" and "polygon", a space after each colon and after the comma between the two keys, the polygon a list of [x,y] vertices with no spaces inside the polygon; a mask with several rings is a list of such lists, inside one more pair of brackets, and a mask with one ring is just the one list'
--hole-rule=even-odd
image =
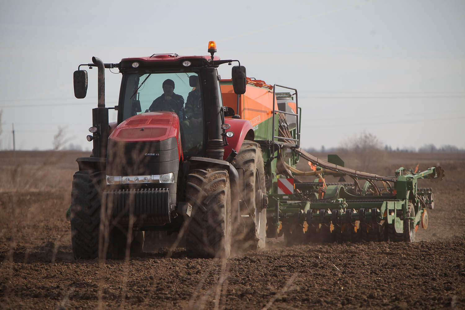
{"label": "dark shaded front tire at the tractor's far left", "polygon": [[105,172],[74,173],[71,190],[71,243],[75,259],[99,256],[101,186]]}

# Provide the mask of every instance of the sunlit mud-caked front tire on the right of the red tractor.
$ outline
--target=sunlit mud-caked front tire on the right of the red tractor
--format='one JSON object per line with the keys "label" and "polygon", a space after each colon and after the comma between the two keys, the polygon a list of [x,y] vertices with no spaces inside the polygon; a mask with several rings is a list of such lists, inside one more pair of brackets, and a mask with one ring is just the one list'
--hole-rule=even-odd
{"label": "sunlit mud-caked front tire on the right of the red tractor", "polygon": [[226,170],[196,169],[189,173],[186,198],[192,205],[186,220],[186,250],[193,257],[231,254],[231,188]]}

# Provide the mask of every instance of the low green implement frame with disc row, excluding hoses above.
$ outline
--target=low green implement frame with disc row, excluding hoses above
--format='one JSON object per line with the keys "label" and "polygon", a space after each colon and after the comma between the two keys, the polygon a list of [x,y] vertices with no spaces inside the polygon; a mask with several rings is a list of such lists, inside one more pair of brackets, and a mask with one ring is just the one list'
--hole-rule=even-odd
{"label": "low green implement frame with disc row, excluding hoses above", "polygon": [[386,227],[393,233],[405,233],[404,221],[409,221],[415,230],[420,223],[425,228],[426,210],[434,208],[434,196],[431,188],[419,188],[418,180],[438,180],[443,171],[431,167],[402,175],[404,171],[404,168],[397,170],[394,185],[386,186],[384,191],[375,190],[372,180],[367,180],[363,188],[350,183],[325,188],[322,182],[315,181],[296,183],[291,194],[277,194],[277,182],[273,183],[274,193],[268,195],[267,207],[269,237],[284,233],[292,239],[296,234],[312,239],[322,234],[325,241],[361,238],[382,241],[389,238]]}

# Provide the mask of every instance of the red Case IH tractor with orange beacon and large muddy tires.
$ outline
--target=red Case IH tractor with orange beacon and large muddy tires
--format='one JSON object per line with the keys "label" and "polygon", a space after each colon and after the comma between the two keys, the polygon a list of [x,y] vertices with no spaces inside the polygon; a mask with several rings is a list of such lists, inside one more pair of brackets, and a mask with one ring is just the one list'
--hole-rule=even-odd
{"label": "red Case IH tractor with orange beacon and large muddy tires", "polygon": [[[93,152],[77,158],[73,179],[75,258],[140,252],[144,231],[179,232],[196,257],[228,257],[233,241],[248,249],[264,246],[261,149],[251,123],[223,106],[217,73],[219,65],[239,61],[214,57],[213,41],[208,52],[153,54],[117,64],[93,57],[93,63],[80,65],[98,68],[98,106],[87,136]],[[76,98],[87,91],[87,72],[80,66],[74,72]],[[122,74],[114,107],[105,106],[105,68]],[[232,69],[239,100],[246,69],[240,63]],[[118,111],[116,123],[109,124],[108,109]]]}

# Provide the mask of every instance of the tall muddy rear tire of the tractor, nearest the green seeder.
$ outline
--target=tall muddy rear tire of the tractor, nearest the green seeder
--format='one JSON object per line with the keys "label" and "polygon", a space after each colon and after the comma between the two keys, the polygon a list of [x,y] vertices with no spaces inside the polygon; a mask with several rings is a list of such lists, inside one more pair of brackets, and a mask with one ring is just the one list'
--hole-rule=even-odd
{"label": "tall muddy rear tire of the tractor, nearest the green seeder", "polygon": [[[266,194],[265,168],[260,145],[253,141],[244,141],[233,166],[239,173],[239,194],[243,208],[248,210],[244,218],[243,238],[238,238],[239,250],[248,251],[266,247],[266,206],[262,201]],[[241,221],[241,219],[239,219]],[[239,236],[240,237],[240,236]]]}

